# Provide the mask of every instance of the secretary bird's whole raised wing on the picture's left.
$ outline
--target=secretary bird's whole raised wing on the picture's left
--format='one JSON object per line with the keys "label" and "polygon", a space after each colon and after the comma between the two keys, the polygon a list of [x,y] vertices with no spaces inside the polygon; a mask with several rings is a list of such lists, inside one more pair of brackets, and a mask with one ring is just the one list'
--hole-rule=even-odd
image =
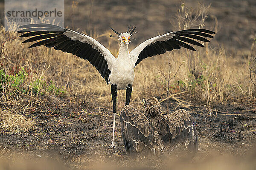
{"label": "secretary bird's whole raised wing on the picture's left", "polygon": [[88,60],[108,83],[111,65],[116,60],[111,52],[98,41],[85,34],[55,26],[52,24],[28,24],[18,33],[25,33],[20,37],[31,37],[24,42],[35,42],[29,48],[44,45],[54,47],[55,50],[72,53],[82,59]]}

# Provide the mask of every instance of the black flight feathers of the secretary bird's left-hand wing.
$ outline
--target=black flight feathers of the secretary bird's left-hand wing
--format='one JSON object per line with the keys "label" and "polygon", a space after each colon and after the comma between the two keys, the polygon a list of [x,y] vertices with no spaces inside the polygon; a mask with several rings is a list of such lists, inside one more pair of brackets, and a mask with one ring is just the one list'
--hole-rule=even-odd
{"label": "black flight feathers of the secretary bird's left-hand wing", "polygon": [[94,67],[96,67],[108,84],[108,77],[111,71],[108,69],[108,64],[105,58],[90,44],[80,42],[79,40],[71,40],[71,38],[64,35],[63,33],[69,31],[68,29],[46,23],[28,24],[20,26],[20,28],[23,29],[17,32],[25,33],[20,35],[20,37],[30,37],[23,41],[24,43],[38,41],[28,48],[44,45],[48,48],[54,47],[55,50],[72,53],[82,59],[87,59]]}

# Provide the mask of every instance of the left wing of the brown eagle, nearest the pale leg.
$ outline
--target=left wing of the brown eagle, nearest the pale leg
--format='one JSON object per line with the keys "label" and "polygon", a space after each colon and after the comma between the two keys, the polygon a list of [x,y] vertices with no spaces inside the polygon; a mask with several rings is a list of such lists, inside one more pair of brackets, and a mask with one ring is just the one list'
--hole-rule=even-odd
{"label": "left wing of the brown eagle, nearest the pale leg", "polygon": [[149,120],[143,113],[126,105],[121,111],[120,122],[127,153],[135,153],[138,142],[146,144],[149,148],[152,146],[154,130],[150,129]]}

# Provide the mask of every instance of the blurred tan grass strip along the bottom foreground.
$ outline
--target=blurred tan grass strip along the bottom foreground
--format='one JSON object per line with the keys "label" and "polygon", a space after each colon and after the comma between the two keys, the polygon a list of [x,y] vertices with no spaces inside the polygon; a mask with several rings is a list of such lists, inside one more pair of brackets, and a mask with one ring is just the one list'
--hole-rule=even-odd
{"label": "blurred tan grass strip along the bottom foreground", "polygon": [[[170,156],[165,159],[128,159],[125,161],[113,161],[104,156],[80,156],[72,160],[73,164],[64,164],[55,156],[41,157],[28,153],[15,154],[12,161],[0,159],[0,170],[255,170],[255,150],[247,156],[219,155],[215,151],[201,159],[187,159]],[[76,164],[79,163],[79,164]],[[70,166],[71,165],[71,166]]]}

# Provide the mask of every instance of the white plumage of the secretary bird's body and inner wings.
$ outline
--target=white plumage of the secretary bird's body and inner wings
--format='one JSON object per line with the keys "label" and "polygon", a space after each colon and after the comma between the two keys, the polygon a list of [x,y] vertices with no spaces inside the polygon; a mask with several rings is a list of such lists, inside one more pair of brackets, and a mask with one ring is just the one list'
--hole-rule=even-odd
{"label": "white plumage of the secretary bird's body and inner wings", "polygon": [[[134,48],[129,54],[128,44],[122,43],[119,48],[119,55],[117,59],[113,57],[111,52],[105,48],[98,41],[94,40],[92,37],[89,37],[85,34],[78,33],[76,31],[70,30],[63,33],[67,37],[70,37],[71,40],[79,40],[81,42],[86,42],[94,49],[97,49],[106,59],[108,63],[108,69],[111,71],[108,81],[111,85],[117,85],[117,90],[126,89],[128,84],[133,84],[134,82],[134,65],[138,59],[138,56],[141,51],[151,43],[156,41],[165,41],[172,38],[175,34],[167,33],[164,35],[158,35],[153,37],[145,42],[141,43],[137,48]],[[128,38],[130,34],[122,33],[122,36]]]}

